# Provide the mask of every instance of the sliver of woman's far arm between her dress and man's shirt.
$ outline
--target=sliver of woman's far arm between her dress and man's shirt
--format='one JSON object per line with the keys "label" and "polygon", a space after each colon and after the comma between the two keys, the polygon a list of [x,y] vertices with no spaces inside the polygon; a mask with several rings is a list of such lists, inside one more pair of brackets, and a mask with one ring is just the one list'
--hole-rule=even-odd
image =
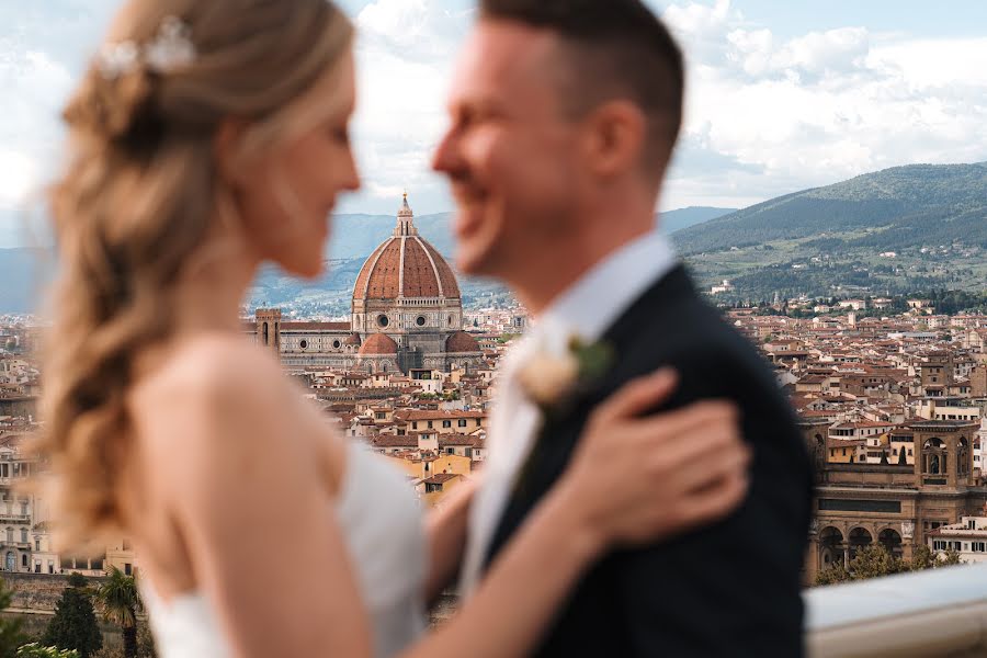
{"label": "sliver of woman's far arm between her dress and man's shirt", "polygon": [[469,503],[481,475],[474,474],[469,477],[468,484],[456,487],[442,507],[431,511],[426,520],[430,554],[426,600],[430,603],[452,585],[463,561]]}

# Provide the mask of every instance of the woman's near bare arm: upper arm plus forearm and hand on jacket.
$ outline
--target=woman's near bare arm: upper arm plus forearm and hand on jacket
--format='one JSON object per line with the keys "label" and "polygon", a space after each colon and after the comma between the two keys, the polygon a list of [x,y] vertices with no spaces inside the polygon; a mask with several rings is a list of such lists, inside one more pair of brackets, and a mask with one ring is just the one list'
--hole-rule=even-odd
{"label": "woman's near bare arm: upper arm plus forearm and hand on jacket", "polygon": [[[174,450],[186,457],[171,480],[171,514],[196,588],[238,657],[370,658],[367,614],[342,531],[327,510],[318,460],[304,440],[324,423],[280,384],[280,370],[265,356],[230,350],[208,360],[202,368],[212,375],[162,400],[174,409]],[[650,397],[648,386],[638,385],[637,398]],[[730,454],[736,460],[721,431],[736,424],[731,413],[707,405],[699,417],[710,440],[697,442],[678,440],[694,439],[693,410],[662,416],[660,427],[651,420],[626,426],[621,421],[633,416],[631,407],[611,407],[474,599],[410,647],[409,658],[522,656],[601,551],[712,519],[738,501],[742,483],[736,478],[683,494],[708,485],[700,472],[742,470],[717,462]],[[710,467],[689,470],[693,479],[656,477],[666,473],[665,463],[683,460],[706,460]],[[608,496],[599,496],[598,486]]]}

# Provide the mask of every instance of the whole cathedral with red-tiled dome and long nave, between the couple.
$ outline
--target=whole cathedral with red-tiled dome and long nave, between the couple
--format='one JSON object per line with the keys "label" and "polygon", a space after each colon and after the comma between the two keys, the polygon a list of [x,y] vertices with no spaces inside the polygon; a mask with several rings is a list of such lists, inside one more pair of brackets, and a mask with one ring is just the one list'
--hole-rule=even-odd
{"label": "whole cathedral with red-tiled dome and long nave, between the couple", "polygon": [[280,309],[261,308],[247,330],[285,366],[408,373],[479,365],[480,347],[462,328],[456,276],[418,234],[406,194],[394,232],[356,277],[349,322],[283,321]]}

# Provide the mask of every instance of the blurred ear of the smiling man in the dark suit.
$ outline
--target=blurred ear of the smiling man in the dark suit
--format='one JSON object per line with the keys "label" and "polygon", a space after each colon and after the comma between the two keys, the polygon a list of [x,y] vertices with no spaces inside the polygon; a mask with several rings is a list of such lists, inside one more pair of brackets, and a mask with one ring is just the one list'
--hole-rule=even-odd
{"label": "blurred ear of the smiling man in the dark suit", "polygon": [[647,117],[631,101],[606,101],[583,122],[585,156],[590,170],[613,178],[642,167],[647,138]]}

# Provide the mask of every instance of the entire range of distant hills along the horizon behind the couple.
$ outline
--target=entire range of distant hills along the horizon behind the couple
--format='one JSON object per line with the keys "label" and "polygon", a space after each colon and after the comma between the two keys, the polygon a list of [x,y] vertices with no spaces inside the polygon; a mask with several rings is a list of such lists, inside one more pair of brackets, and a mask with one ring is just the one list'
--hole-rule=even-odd
{"label": "entire range of distant hills along the horizon behind the couple", "polygon": [[[451,263],[452,217],[415,219]],[[987,287],[987,162],[897,167],[736,212],[671,211],[660,222],[702,286],[731,281],[723,300]],[[327,274],[299,282],[265,268],[249,302],[345,314],[360,268],[394,225],[393,215],[333,217]],[[39,253],[0,249],[0,313],[37,308]],[[462,277],[461,287],[467,302],[507,294],[489,281]]]}

